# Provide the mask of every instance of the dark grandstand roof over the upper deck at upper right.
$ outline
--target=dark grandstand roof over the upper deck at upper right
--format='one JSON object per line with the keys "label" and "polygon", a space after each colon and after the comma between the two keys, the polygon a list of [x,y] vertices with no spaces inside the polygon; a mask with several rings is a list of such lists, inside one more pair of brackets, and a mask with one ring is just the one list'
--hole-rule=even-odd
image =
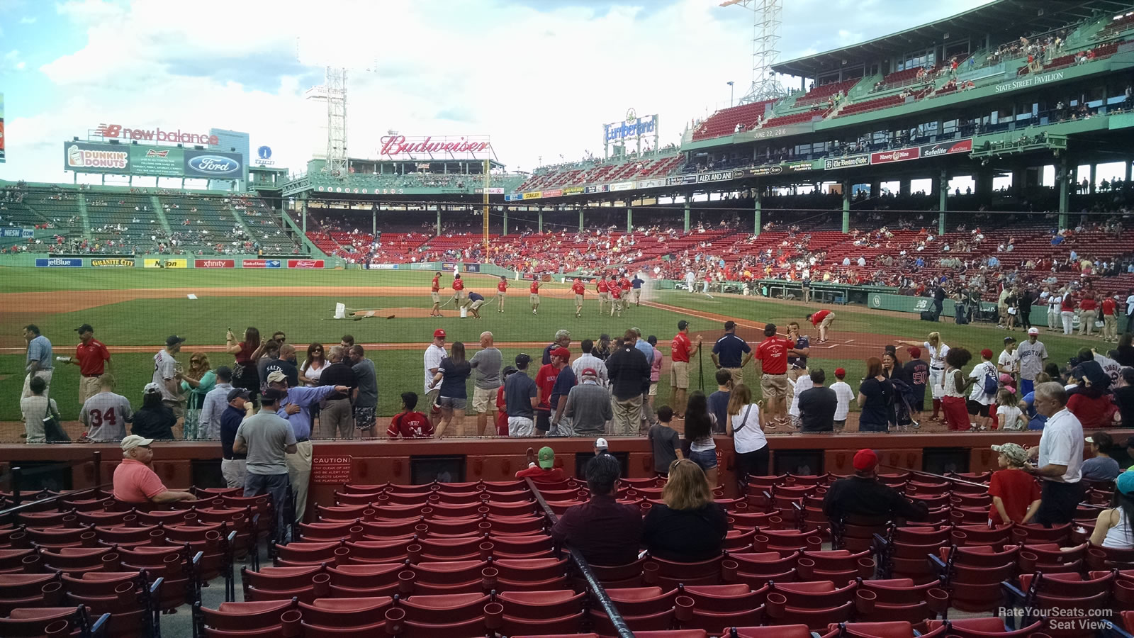
{"label": "dark grandstand roof over the upper deck at upper right", "polygon": [[[989,34],[993,42],[998,34],[1008,37],[1043,33],[1102,12],[1119,14],[1134,9],[1129,0],[993,0],[988,5],[962,11],[897,33],[831,49],[822,53],[787,60],[772,66],[776,73],[799,77],[839,68],[844,60],[861,60],[895,52],[903,52],[939,43],[962,33]],[[991,27],[991,28],[990,28]]]}

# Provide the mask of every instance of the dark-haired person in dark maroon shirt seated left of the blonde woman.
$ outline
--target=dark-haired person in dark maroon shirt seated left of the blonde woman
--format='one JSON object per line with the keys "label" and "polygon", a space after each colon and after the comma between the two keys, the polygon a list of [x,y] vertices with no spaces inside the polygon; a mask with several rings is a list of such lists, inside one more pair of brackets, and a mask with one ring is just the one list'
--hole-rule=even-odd
{"label": "dark-haired person in dark maroon shirt seated left of the blonde woman", "polygon": [[615,500],[618,460],[599,454],[587,461],[585,473],[591,500],[564,512],[551,528],[551,537],[578,549],[592,565],[633,563],[642,544],[642,514],[636,505]]}

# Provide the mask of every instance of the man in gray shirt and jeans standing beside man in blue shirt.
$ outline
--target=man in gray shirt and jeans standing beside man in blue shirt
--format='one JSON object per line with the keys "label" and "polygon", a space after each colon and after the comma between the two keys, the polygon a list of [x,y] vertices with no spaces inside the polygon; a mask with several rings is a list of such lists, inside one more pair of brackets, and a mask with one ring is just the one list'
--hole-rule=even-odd
{"label": "man in gray shirt and jeans standing beside man in blue shirt", "polygon": [[287,455],[296,453],[295,434],[286,419],[276,414],[286,393],[268,388],[260,400],[260,412],[245,419],[236,430],[232,452],[247,454],[244,495],[270,494],[276,506],[276,540],[285,539],[284,511],[291,485]]}

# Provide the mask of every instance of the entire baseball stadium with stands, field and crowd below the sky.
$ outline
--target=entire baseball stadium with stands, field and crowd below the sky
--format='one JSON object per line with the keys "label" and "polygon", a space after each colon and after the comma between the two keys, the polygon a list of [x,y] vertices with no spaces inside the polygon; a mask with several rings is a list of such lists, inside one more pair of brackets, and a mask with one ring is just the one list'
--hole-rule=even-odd
{"label": "entire baseball stadium with stands, field and crowd below the sky", "polygon": [[1134,2],[721,7],[750,90],[601,158],[356,157],[327,67],[303,166],[0,179],[0,636],[1134,635]]}

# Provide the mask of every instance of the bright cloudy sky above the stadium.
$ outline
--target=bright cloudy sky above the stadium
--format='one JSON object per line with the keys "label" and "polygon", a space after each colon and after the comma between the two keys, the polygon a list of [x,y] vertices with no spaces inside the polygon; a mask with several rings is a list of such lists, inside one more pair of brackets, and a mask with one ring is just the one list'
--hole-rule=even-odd
{"label": "bright cloudy sky above the stadium", "polygon": [[[988,0],[789,0],[780,59]],[[659,114],[662,143],[751,82],[752,14],[719,0],[0,0],[0,178],[70,181],[61,144],[101,123],[247,131],[302,168],[325,107],[322,65],[349,70],[348,149],[387,131],[491,135],[530,170],[601,154],[603,123]],[[322,109],[322,110],[320,110]],[[322,117],[321,117],[322,114]],[[321,144],[325,146],[324,142]]]}

